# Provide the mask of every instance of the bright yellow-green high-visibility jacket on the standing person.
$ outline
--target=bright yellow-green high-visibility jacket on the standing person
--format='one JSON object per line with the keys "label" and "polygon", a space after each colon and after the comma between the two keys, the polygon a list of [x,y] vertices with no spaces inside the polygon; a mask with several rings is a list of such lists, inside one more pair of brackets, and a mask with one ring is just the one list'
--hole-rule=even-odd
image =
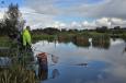
{"label": "bright yellow-green high-visibility jacket on the standing person", "polygon": [[25,28],[22,35],[23,35],[23,46],[26,46],[26,44],[32,45],[31,34],[28,29]]}

